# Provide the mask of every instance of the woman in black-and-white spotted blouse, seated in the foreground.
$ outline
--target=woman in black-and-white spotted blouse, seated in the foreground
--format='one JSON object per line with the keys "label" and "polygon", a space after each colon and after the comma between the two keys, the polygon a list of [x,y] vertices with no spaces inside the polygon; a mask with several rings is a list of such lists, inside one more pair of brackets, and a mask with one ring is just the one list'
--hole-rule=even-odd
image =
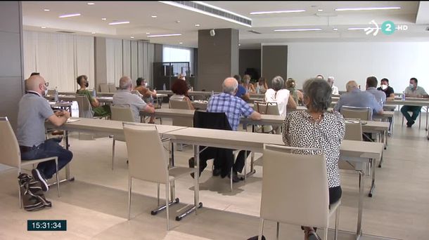
{"label": "woman in black-and-white spotted blouse, seated in the foreground", "polygon": [[[338,159],[345,135],[345,121],[339,112],[326,112],[331,106],[331,86],[324,79],[309,79],[303,86],[307,111],[291,112],[283,122],[283,142],[290,147],[323,149],[326,158],[329,204],[341,197]],[[297,151],[296,151],[297,152]],[[299,152],[314,154],[314,152]],[[320,154],[320,152],[316,152]],[[314,198],[315,201],[317,197]],[[314,227],[302,227],[305,239],[320,239]]]}

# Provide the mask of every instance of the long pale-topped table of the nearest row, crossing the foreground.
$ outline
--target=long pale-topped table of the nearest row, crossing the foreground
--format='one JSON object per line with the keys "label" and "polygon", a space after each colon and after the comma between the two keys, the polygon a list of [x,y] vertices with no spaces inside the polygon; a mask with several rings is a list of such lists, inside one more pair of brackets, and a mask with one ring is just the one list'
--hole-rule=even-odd
{"label": "long pale-topped table of the nearest row, crossing the foreground", "polygon": [[[84,131],[90,133],[104,133],[106,135],[123,135],[122,122],[111,121],[104,119],[79,119],[79,121],[68,122],[63,126],[56,127],[65,131]],[[146,126],[153,126],[153,124],[141,124]],[[199,169],[198,149],[200,145],[210,147],[223,147],[230,149],[246,149],[254,152],[262,152],[264,144],[283,145],[281,135],[273,134],[260,134],[241,131],[222,131],[205,128],[186,128],[180,126],[167,126],[155,125],[162,135],[162,138],[172,138],[173,142],[185,143],[194,145],[194,157],[197,162],[197,169]],[[46,127],[53,127],[52,124],[46,123]],[[68,146],[68,140],[66,140]],[[340,147],[340,159],[353,161],[355,169],[359,172],[359,211],[358,211],[358,225],[357,237],[361,235],[361,217],[362,206],[364,198],[364,178],[361,176],[369,166],[370,159],[380,160],[383,154],[383,144],[378,142],[361,142],[344,140]],[[375,168],[373,168],[375,171]],[[66,166],[66,178],[70,179],[70,168]],[[373,179],[375,173],[373,173]],[[196,174],[196,181],[198,182],[198,174]],[[375,183],[373,182],[373,185]],[[375,185],[374,185],[375,186]],[[197,185],[198,188],[198,185]],[[372,189],[372,187],[371,187]],[[198,189],[196,189],[198,193]],[[199,202],[199,196],[196,194],[196,203]],[[193,207],[185,212],[185,215],[196,211]]]}

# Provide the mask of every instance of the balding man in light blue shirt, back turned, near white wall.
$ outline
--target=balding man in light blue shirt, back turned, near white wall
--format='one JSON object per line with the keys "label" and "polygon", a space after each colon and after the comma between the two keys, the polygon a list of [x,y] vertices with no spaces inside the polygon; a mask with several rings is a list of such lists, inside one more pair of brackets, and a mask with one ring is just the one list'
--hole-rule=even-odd
{"label": "balding man in light blue shirt, back turned, near white wall", "polygon": [[345,86],[347,93],[340,96],[333,109],[340,112],[342,106],[369,107],[372,114],[383,114],[383,107],[377,102],[376,97],[366,91],[360,91],[356,81],[349,81]]}

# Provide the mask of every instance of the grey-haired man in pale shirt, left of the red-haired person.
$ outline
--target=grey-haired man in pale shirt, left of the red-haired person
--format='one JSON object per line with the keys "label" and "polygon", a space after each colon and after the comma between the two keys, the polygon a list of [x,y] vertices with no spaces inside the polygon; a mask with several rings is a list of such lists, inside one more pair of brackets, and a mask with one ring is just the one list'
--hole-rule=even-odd
{"label": "grey-haired man in pale shirt, left of the red-haired person", "polygon": [[[140,110],[154,113],[155,108],[151,103],[146,104],[138,95],[132,94],[132,81],[129,76],[122,76],[119,80],[119,90],[113,95],[114,105],[129,105],[134,115],[134,121],[140,122]],[[151,118],[149,124],[155,122]]]}

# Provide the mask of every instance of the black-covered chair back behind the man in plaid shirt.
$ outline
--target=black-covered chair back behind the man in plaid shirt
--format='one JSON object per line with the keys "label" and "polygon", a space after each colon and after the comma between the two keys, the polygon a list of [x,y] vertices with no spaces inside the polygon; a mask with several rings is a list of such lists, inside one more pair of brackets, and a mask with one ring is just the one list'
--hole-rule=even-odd
{"label": "black-covered chair back behind the man in plaid shirt", "polygon": [[193,114],[193,126],[195,128],[210,128],[220,130],[231,130],[228,118],[224,112],[202,112]]}

